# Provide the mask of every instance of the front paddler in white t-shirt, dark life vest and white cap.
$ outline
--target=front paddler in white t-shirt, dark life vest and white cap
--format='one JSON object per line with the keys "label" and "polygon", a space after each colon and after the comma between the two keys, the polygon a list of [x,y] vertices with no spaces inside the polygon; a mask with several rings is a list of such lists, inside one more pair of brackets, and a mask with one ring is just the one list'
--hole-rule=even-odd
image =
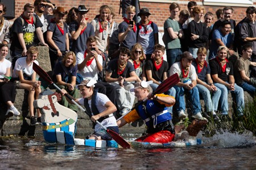
{"label": "front paddler in white t-shirt, dark life vest and white cap", "polygon": [[[116,133],[119,133],[117,120],[115,119],[113,112],[117,111],[115,105],[109,100],[109,98],[101,93],[98,93],[97,90],[94,90],[94,84],[97,83],[96,80],[83,80],[77,87],[81,91],[80,99],[73,99],[76,103],[84,105],[90,120],[95,122],[99,121],[106,129],[113,130]],[[61,89],[61,94],[67,94],[67,91]],[[72,97],[73,98],[73,97]],[[67,99],[70,103],[69,99]],[[88,139],[94,140],[112,140],[112,137],[106,133],[100,125],[95,125],[94,133],[87,137]]]}

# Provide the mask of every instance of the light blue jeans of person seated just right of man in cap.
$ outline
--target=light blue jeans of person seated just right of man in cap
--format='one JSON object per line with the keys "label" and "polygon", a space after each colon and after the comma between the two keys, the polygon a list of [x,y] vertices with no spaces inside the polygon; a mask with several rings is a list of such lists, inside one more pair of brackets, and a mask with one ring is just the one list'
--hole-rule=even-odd
{"label": "light blue jeans of person seated just right of man in cap", "polygon": [[221,96],[221,90],[220,88],[217,88],[216,92],[212,92],[212,97],[210,96],[210,91],[207,87],[197,84],[196,87],[198,88],[198,91],[200,94],[202,94],[204,99],[205,107],[207,108],[207,112],[217,111],[218,110],[218,100]]}

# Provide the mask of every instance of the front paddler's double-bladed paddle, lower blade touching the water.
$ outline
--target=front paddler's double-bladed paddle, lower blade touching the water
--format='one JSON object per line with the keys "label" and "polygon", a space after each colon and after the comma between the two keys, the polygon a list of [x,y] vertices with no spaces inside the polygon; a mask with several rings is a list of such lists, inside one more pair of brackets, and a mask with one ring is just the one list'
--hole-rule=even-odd
{"label": "front paddler's double-bladed paddle, lower blade touching the water", "polygon": [[[51,77],[46,73],[46,71],[44,71],[39,65],[37,65],[36,63],[33,63],[33,70],[35,70],[35,72],[44,80],[46,80],[46,82],[48,82],[49,84],[53,84],[54,87],[57,88],[57,90],[61,91],[61,89],[52,82]],[[65,94],[66,97],[68,97],[69,100],[71,100],[75,105],[77,105],[77,107],[79,107],[83,112],[85,112],[85,109],[81,107],[81,105],[79,105],[78,103],[76,103],[75,100],[73,100],[71,98],[71,96]],[[100,125],[102,128],[104,128],[106,130],[106,132],[123,148],[130,148],[130,144],[127,143],[125,141],[125,139],[123,139],[118,133],[115,133],[115,131],[106,129],[105,126],[103,126],[100,122],[96,121],[96,123],[98,125]]]}

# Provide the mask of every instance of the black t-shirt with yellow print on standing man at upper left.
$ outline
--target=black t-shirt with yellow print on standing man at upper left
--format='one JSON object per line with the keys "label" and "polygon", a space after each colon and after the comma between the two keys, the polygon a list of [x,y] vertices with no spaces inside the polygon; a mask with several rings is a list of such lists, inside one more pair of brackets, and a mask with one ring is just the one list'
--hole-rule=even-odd
{"label": "black t-shirt with yellow print on standing man at upper left", "polygon": [[[34,20],[34,18],[36,20]],[[35,31],[38,27],[43,27],[43,24],[37,15],[34,15],[32,24],[28,24],[26,20],[22,18],[22,16],[19,16],[19,18],[15,19],[11,27],[13,29],[13,39],[11,41],[10,49],[23,50],[18,39],[18,33],[23,33],[23,39],[27,49],[30,48],[30,46],[35,45]]]}

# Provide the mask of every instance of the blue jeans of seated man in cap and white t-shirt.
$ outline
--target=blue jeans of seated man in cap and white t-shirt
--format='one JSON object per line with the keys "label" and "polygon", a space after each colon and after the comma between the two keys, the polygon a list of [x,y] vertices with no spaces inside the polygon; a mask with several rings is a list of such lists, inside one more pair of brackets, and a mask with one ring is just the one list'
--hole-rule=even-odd
{"label": "blue jeans of seated man in cap and white t-shirt", "polygon": [[177,112],[183,110],[185,112],[185,99],[184,95],[189,95],[189,101],[191,101],[193,114],[201,112],[201,105],[200,105],[200,98],[199,98],[199,91],[197,87],[192,88],[192,90],[184,89],[180,86],[174,86],[176,90],[176,108]]}

